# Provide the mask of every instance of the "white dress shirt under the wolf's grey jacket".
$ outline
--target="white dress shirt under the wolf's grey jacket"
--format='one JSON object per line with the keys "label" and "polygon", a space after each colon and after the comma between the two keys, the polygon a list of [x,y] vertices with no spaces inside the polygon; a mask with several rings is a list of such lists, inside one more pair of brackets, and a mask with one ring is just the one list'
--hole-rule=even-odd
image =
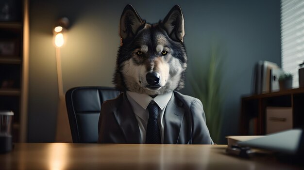
{"label": "white dress shirt under the wolf's grey jacket", "polygon": [[160,125],[160,133],[161,133],[161,141],[164,143],[164,126],[165,121],[163,119],[165,109],[169,100],[171,99],[172,92],[165,93],[161,95],[157,95],[156,97],[152,98],[147,94],[135,93],[127,91],[127,98],[131,104],[133,112],[135,113],[135,118],[138,122],[140,136],[142,143],[146,143],[146,131],[147,131],[147,124],[149,119],[149,111],[147,109],[149,103],[153,100],[158,107],[158,118],[157,122]]}

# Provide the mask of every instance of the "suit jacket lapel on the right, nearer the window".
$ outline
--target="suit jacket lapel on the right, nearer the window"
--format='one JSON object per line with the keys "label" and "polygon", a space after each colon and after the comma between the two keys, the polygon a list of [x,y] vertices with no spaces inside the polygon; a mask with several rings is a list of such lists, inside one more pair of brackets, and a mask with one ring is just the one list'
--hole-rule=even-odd
{"label": "suit jacket lapel on the right, nearer the window", "polygon": [[164,143],[177,143],[185,109],[175,99],[174,93],[165,110]]}

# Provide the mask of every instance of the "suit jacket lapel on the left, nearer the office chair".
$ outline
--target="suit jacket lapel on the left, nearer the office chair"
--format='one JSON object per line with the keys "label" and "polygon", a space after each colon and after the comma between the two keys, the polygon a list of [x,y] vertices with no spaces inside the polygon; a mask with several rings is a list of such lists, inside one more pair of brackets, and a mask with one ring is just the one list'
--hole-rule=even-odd
{"label": "suit jacket lapel on the left, nearer the office chair", "polygon": [[138,123],[126,93],[123,93],[122,106],[114,115],[127,143],[142,143]]}

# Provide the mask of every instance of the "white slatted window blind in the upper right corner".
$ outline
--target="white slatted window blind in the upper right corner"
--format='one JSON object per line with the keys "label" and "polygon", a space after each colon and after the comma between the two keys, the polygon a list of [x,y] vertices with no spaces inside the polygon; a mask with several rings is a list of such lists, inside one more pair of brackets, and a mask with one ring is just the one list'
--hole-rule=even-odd
{"label": "white slatted window blind in the upper right corner", "polygon": [[299,87],[299,64],[304,62],[304,0],[281,0],[282,69]]}

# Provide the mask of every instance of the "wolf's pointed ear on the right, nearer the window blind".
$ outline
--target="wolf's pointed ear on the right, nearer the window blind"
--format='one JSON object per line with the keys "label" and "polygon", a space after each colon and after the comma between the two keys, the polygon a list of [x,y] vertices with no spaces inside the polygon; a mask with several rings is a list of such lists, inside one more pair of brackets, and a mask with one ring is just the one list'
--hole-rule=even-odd
{"label": "wolf's pointed ear on the right, nearer the window blind", "polygon": [[183,42],[185,36],[184,16],[178,5],[175,5],[167,14],[163,20],[163,26],[171,39]]}

